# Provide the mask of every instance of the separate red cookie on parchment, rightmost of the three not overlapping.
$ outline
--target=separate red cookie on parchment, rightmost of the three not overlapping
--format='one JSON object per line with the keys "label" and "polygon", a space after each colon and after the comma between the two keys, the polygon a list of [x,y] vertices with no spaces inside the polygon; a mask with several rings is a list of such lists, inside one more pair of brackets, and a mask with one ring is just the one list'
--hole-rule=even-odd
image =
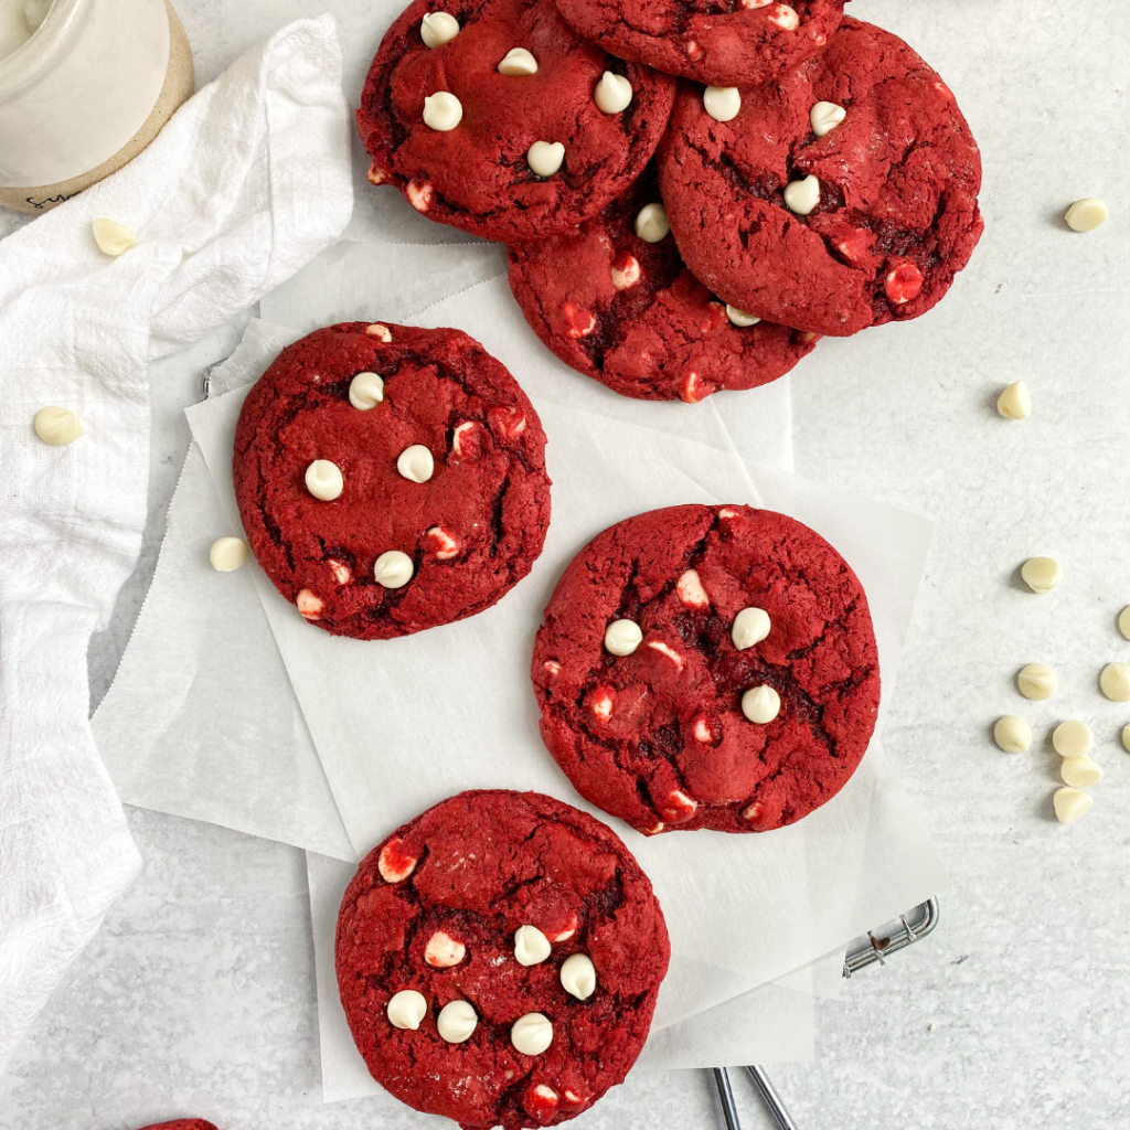
{"label": "separate red cookie on parchment, rightmost of the three not overlapping", "polygon": [[[734,618],[768,615],[739,650]],[[603,646],[634,620],[628,655]],[[562,575],[533,649],[541,736],[576,790],[641,832],[765,832],[828,801],[875,729],[867,598],[807,525],[749,506],[673,506],[605,530]],[[766,724],[742,711],[780,696]]]}

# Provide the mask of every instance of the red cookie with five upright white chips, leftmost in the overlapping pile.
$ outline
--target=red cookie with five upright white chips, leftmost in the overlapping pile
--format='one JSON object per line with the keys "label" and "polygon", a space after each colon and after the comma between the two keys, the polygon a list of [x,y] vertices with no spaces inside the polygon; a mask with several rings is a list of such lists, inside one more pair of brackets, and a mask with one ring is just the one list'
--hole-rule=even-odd
{"label": "red cookie with five upright white chips, leftmost in the overlapping pile", "polygon": [[[459,34],[428,49],[420,20],[443,11]],[[537,73],[499,75],[515,47]],[[632,101],[603,113],[593,92],[605,71],[627,78]],[[424,99],[446,92],[462,106],[453,129],[424,122]],[[370,181],[394,184],[429,219],[488,240],[541,238],[596,215],[643,171],[667,125],[673,81],[583,41],[553,0],[416,0],[389,28],[373,61],[357,127]],[[551,175],[527,154],[565,147]]]}

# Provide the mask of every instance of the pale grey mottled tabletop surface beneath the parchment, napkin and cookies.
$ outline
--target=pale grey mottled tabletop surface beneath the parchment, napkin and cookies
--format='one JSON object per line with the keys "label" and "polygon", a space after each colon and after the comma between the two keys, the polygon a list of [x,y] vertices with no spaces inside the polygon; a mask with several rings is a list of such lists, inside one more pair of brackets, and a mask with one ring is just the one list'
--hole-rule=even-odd
{"label": "pale grey mottled tabletop surface beneath the parchment, napkin and cookies", "polygon": [[[383,27],[360,0],[181,0],[201,81],[268,31],[325,8],[342,20],[348,96]],[[956,92],[982,145],[986,234],[928,318],[825,341],[793,380],[797,467],[937,522],[886,745],[953,878],[938,932],[820,1006],[819,1062],[777,1068],[802,1130],[1113,1127],[1130,1121],[1130,707],[1097,675],[1130,660],[1114,619],[1130,602],[1130,271],[1123,0],[855,0],[904,35]],[[350,235],[454,233],[363,184]],[[1101,195],[1088,236],[1059,220]],[[0,218],[0,234],[14,217]],[[188,442],[180,410],[233,325],[155,373],[151,520],[137,575],[92,649],[97,699],[151,572]],[[1023,377],[1034,416],[996,416]],[[723,409],[724,410],[724,409]],[[1022,590],[1025,557],[1057,556],[1049,597]],[[1052,663],[1059,695],[1025,703],[1012,677]],[[1034,749],[1000,754],[998,714]],[[1046,734],[1079,716],[1107,777],[1090,815],[1051,818]],[[438,1123],[366,1102],[322,1107],[302,857],[149,812],[131,825],[146,871],[0,1078],[3,1130],[129,1130],[199,1113],[231,1130]],[[746,1123],[764,1122],[745,1081]],[[637,1074],[580,1120],[636,1130],[720,1124],[703,1072]]]}

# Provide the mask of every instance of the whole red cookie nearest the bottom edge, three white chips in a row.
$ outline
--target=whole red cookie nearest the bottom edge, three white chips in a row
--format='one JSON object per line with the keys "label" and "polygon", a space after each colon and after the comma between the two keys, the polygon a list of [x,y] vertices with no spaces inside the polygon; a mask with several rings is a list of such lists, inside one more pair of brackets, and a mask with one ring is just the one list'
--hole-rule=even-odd
{"label": "whole red cookie nearest the bottom edge, three white chips in a row", "polygon": [[[514,935],[529,925],[549,953],[522,965]],[[442,955],[431,962],[429,944]],[[518,1128],[565,1122],[624,1080],[670,946],[647,877],[609,828],[538,793],[484,791],[436,805],[368,854],[342,899],[336,953],[350,1031],[381,1086],[463,1127]],[[562,984],[576,954],[596,970],[584,1000]],[[405,990],[424,998],[416,1029],[389,1020]],[[437,1028],[454,1001],[477,1020],[463,1043]],[[540,1054],[511,1041],[531,1012],[553,1025]]]}

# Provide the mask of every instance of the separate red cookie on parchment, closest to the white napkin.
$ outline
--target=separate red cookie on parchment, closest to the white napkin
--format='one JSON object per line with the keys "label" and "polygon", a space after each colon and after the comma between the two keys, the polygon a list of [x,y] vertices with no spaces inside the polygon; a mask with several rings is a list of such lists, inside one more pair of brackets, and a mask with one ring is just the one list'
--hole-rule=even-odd
{"label": "separate red cookie on parchment, closest to the white napkin", "polygon": [[[377,377],[383,399],[363,399]],[[529,573],[549,524],[545,445],[525,393],[466,333],[347,322],[288,346],[247,394],[235,498],[307,620],[385,640],[473,616]],[[431,478],[401,472],[409,447]],[[336,498],[311,493],[315,461],[340,471]]]}

